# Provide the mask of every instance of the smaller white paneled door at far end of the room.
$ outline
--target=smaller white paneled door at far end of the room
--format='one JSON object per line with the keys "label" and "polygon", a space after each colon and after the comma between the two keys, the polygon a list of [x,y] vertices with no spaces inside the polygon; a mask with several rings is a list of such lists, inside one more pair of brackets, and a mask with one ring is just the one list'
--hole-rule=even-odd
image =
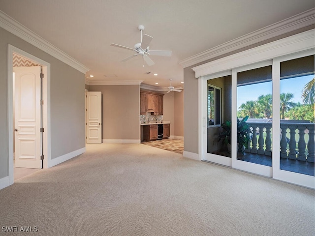
{"label": "smaller white paneled door at far end of the room", "polygon": [[102,143],[102,93],[86,92],[87,144]]}

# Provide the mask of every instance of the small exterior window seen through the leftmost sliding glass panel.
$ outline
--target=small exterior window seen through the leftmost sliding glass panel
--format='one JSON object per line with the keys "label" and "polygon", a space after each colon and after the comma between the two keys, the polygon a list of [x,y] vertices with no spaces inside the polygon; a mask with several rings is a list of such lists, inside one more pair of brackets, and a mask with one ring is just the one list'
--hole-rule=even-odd
{"label": "small exterior window seen through the leftmost sliding glass panel", "polygon": [[221,125],[221,88],[208,84],[208,127]]}

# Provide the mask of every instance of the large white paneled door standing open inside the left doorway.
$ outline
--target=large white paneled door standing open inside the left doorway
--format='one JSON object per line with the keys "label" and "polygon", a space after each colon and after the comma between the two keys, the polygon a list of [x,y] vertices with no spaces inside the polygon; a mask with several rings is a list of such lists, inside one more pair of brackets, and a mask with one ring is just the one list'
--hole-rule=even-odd
{"label": "large white paneled door standing open inside the left doorway", "polygon": [[14,67],[15,166],[42,168],[40,66]]}

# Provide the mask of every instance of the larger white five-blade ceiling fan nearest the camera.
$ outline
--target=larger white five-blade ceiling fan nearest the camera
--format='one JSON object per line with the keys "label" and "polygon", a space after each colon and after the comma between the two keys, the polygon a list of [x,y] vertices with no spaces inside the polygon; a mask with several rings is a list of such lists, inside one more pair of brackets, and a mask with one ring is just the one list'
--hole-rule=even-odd
{"label": "larger white five-blade ceiling fan nearest the camera", "polygon": [[[111,46],[114,46],[114,47],[119,47],[119,48],[123,48],[123,49],[127,49],[130,51],[136,52],[132,56],[127,57],[126,59],[123,59],[122,61],[127,61],[131,58],[134,58],[134,57],[140,55],[140,56],[142,56],[143,60],[150,66],[150,65],[154,64],[154,61],[152,59],[150,59],[148,55],[166,56],[166,57],[170,57],[172,55],[172,51],[150,50],[149,44],[150,44],[151,40],[153,39],[153,37],[151,37],[147,34],[142,35],[142,31],[144,30],[144,26],[140,25],[138,27],[138,29],[140,30],[140,36],[141,36],[140,43],[136,43],[133,46],[133,48],[125,47],[125,46],[118,45],[115,43],[111,44]],[[143,62],[143,67],[144,67],[144,62]]]}

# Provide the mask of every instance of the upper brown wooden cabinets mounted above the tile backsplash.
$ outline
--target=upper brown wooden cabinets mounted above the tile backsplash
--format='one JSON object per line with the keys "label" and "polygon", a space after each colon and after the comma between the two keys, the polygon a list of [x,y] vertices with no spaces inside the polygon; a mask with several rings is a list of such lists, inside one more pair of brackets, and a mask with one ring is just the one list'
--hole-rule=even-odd
{"label": "upper brown wooden cabinets mounted above the tile backsplash", "polygon": [[140,115],[147,112],[163,115],[163,95],[161,93],[140,91]]}

